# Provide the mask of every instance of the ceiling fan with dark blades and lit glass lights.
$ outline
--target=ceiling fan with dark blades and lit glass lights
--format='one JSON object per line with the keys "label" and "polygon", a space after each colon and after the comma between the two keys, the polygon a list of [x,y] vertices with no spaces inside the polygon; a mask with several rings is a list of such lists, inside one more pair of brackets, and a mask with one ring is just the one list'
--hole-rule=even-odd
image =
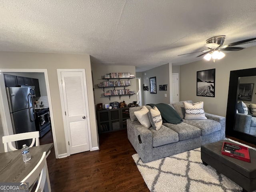
{"label": "ceiling fan with dark blades and lit glass lights", "polygon": [[[204,55],[204,59],[209,61],[212,58],[215,62],[215,59],[221,59],[225,56],[224,52],[222,51],[239,51],[244,48],[235,47],[235,46],[252,43],[252,42],[255,42],[253,40],[256,40],[256,38],[250,38],[250,39],[245,39],[245,40],[223,45],[225,37],[226,37],[225,35],[219,35],[219,36],[209,38],[206,40],[206,45],[205,45],[208,48],[207,50],[197,51],[192,53],[204,52],[203,54],[200,54],[197,57]],[[192,54],[192,53],[186,53],[186,54]],[[186,54],[181,54],[181,55],[186,55]],[[181,56],[181,55],[178,55],[178,56]]]}

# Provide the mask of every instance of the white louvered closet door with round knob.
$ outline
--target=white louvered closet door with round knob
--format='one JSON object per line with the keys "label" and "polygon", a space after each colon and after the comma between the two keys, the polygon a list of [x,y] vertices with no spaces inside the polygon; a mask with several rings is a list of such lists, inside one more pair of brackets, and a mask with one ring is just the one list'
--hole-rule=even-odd
{"label": "white louvered closet door with round knob", "polygon": [[70,154],[90,150],[84,89],[85,74],[61,72]]}

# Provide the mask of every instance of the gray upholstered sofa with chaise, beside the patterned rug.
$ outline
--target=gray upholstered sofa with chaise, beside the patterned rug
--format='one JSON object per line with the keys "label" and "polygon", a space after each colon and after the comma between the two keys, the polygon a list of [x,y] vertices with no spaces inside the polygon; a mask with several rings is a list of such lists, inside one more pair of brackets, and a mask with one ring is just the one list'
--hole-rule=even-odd
{"label": "gray upholstered sofa with chaise, beside the patterned rug", "polygon": [[[138,122],[134,112],[142,109],[142,106],[129,109],[128,139],[144,163],[225,139],[225,117],[205,113],[206,120],[185,120],[184,101],[170,106],[180,115],[183,122],[163,123],[159,130],[146,128]],[[151,109],[150,106],[146,107]]]}

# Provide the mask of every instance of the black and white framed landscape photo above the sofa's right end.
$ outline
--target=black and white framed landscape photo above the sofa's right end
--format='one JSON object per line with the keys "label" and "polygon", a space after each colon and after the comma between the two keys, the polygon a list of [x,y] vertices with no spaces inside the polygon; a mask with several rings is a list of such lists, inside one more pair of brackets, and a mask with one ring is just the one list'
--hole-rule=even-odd
{"label": "black and white framed landscape photo above the sofa's right end", "polygon": [[196,96],[215,97],[215,69],[196,72]]}

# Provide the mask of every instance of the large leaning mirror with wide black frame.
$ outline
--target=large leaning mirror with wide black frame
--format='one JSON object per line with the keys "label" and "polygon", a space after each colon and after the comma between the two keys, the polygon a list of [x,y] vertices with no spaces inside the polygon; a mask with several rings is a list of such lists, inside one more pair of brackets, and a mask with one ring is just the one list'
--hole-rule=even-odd
{"label": "large leaning mirror with wide black frame", "polygon": [[230,72],[226,134],[256,144],[256,68]]}

